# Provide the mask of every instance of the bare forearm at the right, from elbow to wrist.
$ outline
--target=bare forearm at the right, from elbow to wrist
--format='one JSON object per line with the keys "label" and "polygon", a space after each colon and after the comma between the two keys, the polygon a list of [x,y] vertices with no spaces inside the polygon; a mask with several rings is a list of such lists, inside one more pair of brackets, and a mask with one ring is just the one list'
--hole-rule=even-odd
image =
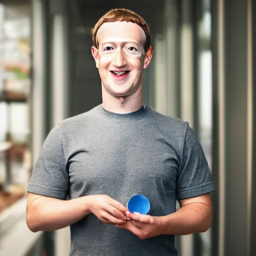
{"label": "bare forearm at the right, from elbow to wrist", "polygon": [[176,212],[159,217],[162,234],[185,235],[205,232],[212,219],[212,209],[204,203],[189,203]]}

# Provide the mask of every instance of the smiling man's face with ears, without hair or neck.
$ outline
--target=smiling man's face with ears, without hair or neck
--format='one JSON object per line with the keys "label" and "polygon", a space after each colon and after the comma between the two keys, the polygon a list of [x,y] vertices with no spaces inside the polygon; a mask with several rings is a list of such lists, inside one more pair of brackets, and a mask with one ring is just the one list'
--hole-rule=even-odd
{"label": "smiling man's face with ears, without hair or neck", "polygon": [[132,22],[103,23],[97,32],[98,49],[92,46],[105,92],[129,96],[142,86],[142,72],[149,64],[152,49],[145,53],[143,29]]}

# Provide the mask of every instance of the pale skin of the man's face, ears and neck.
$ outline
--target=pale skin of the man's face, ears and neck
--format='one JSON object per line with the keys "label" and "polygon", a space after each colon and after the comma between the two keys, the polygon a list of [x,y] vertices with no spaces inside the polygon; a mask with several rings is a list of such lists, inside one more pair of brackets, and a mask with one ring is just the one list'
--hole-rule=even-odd
{"label": "pale skin of the man's face, ears and neck", "polygon": [[[97,32],[98,49],[91,48],[101,78],[102,104],[111,112],[128,113],[142,105],[142,74],[153,51],[144,52],[143,29],[131,22],[107,22]],[[110,47],[110,50],[109,48]],[[133,47],[137,50],[134,54]],[[110,70],[129,70],[128,76],[117,80]]]}

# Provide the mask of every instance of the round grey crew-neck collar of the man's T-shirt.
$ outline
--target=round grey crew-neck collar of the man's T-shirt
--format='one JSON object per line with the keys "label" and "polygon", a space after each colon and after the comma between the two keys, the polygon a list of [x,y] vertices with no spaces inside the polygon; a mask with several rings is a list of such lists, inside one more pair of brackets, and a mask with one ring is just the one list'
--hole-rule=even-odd
{"label": "round grey crew-neck collar of the man's T-shirt", "polygon": [[148,111],[148,107],[145,106],[144,104],[142,104],[142,106],[134,111],[134,112],[130,112],[130,113],[115,113],[115,112],[111,112],[106,110],[102,104],[99,104],[95,107],[95,111],[100,113],[103,116],[107,116],[113,119],[119,119],[119,120],[130,120],[130,119],[138,119],[138,118],[142,118],[145,113]]}

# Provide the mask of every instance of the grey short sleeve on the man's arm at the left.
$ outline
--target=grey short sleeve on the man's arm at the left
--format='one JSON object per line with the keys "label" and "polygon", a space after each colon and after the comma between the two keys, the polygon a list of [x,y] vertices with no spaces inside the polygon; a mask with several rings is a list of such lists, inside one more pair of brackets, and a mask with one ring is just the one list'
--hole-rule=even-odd
{"label": "grey short sleeve on the man's arm at the left", "polygon": [[47,135],[33,167],[27,191],[65,199],[69,179],[63,150],[60,125],[57,124]]}

